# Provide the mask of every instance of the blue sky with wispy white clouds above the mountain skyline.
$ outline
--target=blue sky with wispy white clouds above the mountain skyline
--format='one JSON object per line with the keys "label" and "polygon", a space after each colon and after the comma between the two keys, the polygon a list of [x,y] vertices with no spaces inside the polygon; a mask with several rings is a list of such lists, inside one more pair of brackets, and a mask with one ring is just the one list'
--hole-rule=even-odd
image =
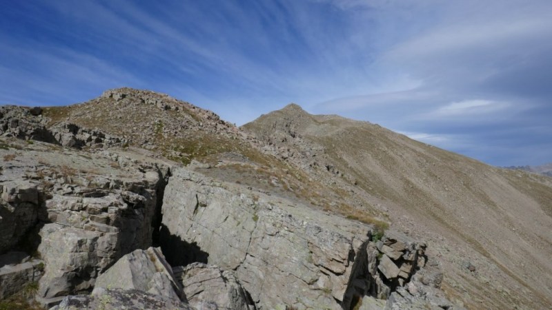
{"label": "blue sky with wispy white clouds above the mountain skyline", "polygon": [[552,162],[549,0],[0,5],[0,104],[129,86],[242,125],[295,102],[491,165]]}

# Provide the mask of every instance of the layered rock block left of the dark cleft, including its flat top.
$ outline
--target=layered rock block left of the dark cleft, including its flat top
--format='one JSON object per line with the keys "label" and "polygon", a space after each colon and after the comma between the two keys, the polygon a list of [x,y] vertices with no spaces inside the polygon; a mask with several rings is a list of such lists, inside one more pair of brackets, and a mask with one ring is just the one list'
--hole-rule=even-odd
{"label": "layered rock block left of the dark cleft, including its flat top", "polygon": [[0,250],[41,257],[39,302],[90,292],[121,256],[152,245],[163,163],[2,139]]}

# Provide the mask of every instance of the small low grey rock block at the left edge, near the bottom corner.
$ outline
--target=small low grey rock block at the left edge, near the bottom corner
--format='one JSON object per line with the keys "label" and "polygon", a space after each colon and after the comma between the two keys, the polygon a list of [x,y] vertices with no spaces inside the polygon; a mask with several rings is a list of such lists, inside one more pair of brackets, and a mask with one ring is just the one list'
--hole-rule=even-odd
{"label": "small low grey rock block at the left edge, near the bottom corner", "polygon": [[23,252],[0,255],[0,300],[17,293],[38,281],[44,270],[44,262],[30,258]]}

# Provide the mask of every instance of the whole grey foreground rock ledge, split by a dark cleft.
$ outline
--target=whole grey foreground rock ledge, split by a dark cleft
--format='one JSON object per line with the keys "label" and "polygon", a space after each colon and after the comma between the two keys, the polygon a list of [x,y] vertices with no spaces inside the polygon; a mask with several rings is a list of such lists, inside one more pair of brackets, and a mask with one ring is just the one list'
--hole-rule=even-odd
{"label": "whole grey foreground rock ledge, split by a dark cleft", "polygon": [[423,242],[6,109],[0,299],[26,291],[52,309],[457,309]]}

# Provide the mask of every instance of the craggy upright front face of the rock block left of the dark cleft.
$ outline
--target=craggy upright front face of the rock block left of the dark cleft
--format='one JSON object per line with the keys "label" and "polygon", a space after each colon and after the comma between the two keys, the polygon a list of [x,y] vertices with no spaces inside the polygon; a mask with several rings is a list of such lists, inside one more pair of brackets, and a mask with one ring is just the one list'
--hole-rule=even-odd
{"label": "craggy upright front face of the rock block left of the dark cleft", "polygon": [[39,297],[89,290],[118,258],[150,246],[158,183],[157,174],[148,173],[142,180],[122,181],[119,189],[84,191],[92,197],[72,192],[46,200],[52,223],[39,232],[38,250],[46,262]]}

